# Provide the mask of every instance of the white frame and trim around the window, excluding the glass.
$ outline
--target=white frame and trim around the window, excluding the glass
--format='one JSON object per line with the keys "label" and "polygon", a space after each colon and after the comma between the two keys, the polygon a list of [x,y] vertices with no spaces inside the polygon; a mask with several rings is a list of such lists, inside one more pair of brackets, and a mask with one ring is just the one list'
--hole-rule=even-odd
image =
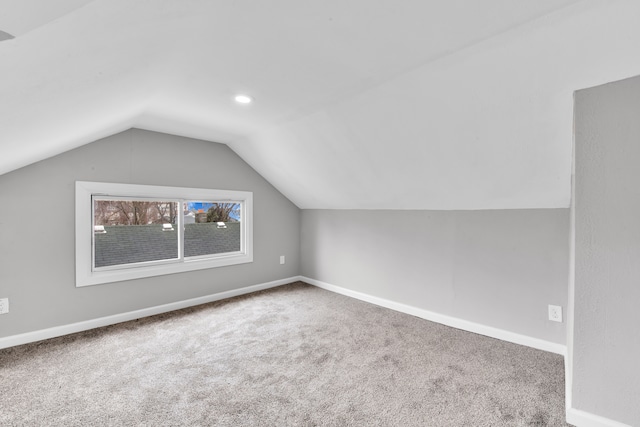
{"label": "white frame and trim around the window, excluding the glass", "polygon": [[[140,197],[164,200],[206,200],[240,202],[241,250],[239,252],[212,254],[153,262],[145,265],[118,266],[121,268],[93,268],[93,196]],[[181,212],[182,204],[179,204]],[[182,215],[178,215],[178,227],[183,227]],[[182,255],[183,248],[180,248]],[[206,268],[224,267],[253,262],[253,193],[249,191],[214,190],[205,188],[164,187],[155,185],[114,184],[105,182],[76,181],[76,287],[120,282],[165,274],[182,273]]]}

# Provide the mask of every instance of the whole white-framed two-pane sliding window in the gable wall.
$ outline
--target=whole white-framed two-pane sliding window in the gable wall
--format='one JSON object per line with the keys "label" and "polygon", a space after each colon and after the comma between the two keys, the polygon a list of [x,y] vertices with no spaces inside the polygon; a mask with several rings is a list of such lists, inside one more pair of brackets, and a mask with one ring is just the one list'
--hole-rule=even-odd
{"label": "whole white-framed two-pane sliding window in the gable wall", "polygon": [[76,286],[253,261],[252,193],[76,182]]}

